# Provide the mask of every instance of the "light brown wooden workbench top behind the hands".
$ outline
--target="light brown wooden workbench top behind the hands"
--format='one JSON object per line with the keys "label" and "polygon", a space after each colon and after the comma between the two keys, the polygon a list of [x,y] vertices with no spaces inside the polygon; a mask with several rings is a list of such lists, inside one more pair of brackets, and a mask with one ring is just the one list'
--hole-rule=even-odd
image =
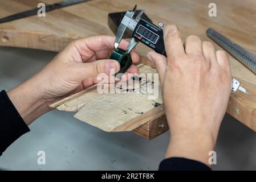
{"label": "light brown wooden workbench top behind the hands", "polygon": [[[35,8],[39,2],[55,3],[58,1],[0,0],[0,17]],[[217,5],[217,17],[208,16],[208,5],[211,2]],[[74,39],[99,34],[113,35],[107,26],[108,13],[131,10],[135,3],[139,9],[145,9],[147,15],[155,23],[159,21],[165,24],[176,23],[183,38],[193,34],[201,36],[203,40],[211,41],[206,37],[205,31],[212,27],[249,51],[256,53],[256,34],[254,34],[256,32],[256,1],[252,0],[92,0],[51,11],[46,14],[45,18],[31,16],[0,24],[0,46],[60,51]],[[145,56],[148,48],[140,44],[136,50],[140,55]],[[256,76],[232,56],[230,56],[230,63],[233,76],[250,91],[249,94],[239,91],[232,93],[227,113],[256,131],[256,100],[254,97]],[[157,123],[157,120],[152,121],[154,122]],[[138,133],[144,135],[144,131],[149,131],[149,124],[146,124],[144,127],[141,126],[143,130]],[[148,136],[149,134],[144,135],[150,138]]]}

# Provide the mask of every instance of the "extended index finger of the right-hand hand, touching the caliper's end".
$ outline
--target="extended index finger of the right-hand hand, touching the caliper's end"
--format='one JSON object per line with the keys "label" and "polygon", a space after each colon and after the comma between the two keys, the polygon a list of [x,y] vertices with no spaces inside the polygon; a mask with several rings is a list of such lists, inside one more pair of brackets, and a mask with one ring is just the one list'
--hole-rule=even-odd
{"label": "extended index finger of the right-hand hand, touching the caliper's end", "polygon": [[164,30],[164,43],[167,57],[180,57],[185,54],[180,32],[176,24],[169,24]]}

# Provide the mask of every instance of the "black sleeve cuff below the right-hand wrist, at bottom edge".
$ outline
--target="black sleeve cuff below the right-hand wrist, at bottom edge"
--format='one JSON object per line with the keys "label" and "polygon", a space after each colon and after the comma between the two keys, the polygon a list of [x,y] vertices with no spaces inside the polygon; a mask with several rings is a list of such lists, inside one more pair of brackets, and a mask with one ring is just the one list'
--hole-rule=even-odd
{"label": "black sleeve cuff below the right-hand wrist, at bottom edge", "polygon": [[212,171],[212,169],[196,160],[168,158],[162,160],[159,171]]}

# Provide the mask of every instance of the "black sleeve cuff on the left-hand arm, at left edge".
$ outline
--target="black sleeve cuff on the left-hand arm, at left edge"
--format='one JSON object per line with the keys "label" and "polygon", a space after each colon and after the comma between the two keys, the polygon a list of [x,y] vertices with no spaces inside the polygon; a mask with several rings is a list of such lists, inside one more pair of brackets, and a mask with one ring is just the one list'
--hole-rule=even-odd
{"label": "black sleeve cuff on the left-hand arm, at left edge", "polygon": [[5,90],[0,92],[0,156],[21,135],[30,129],[19,115]]}

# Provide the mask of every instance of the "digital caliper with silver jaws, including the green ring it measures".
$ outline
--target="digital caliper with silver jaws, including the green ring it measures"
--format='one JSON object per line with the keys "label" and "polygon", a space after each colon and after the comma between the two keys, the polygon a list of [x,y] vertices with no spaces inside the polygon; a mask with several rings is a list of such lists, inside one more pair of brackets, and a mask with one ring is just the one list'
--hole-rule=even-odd
{"label": "digital caliper with silver jaws, including the green ring it measures", "polygon": [[[141,10],[136,18],[133,18],[136,9],[137,5],[135,5],[132,11],[127,11],[125,13],[116,33],[114,45],[115,51],[113,51],[110,59],[119,61],[121,66],[119,73],[124,73],[131,66],[132,60],[130,59],[131,55],[129,55],[129,53],[139,42],[155,50],[157,53],[166,56],[164,48],[164,31],[162,30],[164,24],[160,22],[159,26],[156,26],[147,20],[141,19],[141,15],[143,15],[145,10]],[[132,40],[129,43],[127,50],[124,51],[118,48],[118,46],[121,39],[123,39],[127,28],[132,31]]]}

